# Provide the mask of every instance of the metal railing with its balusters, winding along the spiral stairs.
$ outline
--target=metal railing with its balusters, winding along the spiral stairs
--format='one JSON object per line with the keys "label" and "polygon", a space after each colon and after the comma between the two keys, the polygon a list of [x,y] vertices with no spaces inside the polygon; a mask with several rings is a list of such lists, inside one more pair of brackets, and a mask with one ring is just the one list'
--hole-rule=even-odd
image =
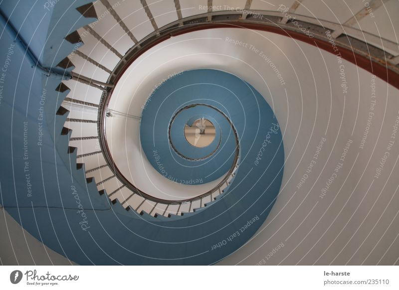
{"label": "metal railing with its balusters, winding along the spiral stairs", "polygon": [[[107,1],[102,0],[102,2],[106,3]],[[114,14],[113,17],[118,17],[118,15]],[[372,62],[378,65],[385,65],[387,70],[391,70],[393,73],[395,73],[395,75],[399,74],[399,65],[398,65],[399,47],[397,43],[394,43],[390,40],[383,39],[377,35],[373,35],[371,33],[367,33],[365,31],[350,26],[341,25],[339,23],[320,20],[317,18],[298,15],[295,13],[290,13],[290,15],[292,17],[295,17],[296,21],[298,21],[299,23],[306,25],[308,31],[314,35],[315,39],[322,40],[327,43],[329,42],[329,38],[325,32],[327,30],[336,31],[336,33],[333,33],[334,35],[333,38],[336,46],[343,47],[346,49],[351,49],[354,52],[354,54],[358,54],[366,58],[369,58]],[[82,158],[85,156],[102,153],[102,155],[105,158],[106,164],[97,166],[92,169],[88,169],[86,170],[86,174],[94,172],[96,170],[100,170],[101,168],[109,167],[113,172],[113,176],[110,176],[106,180],[102,180],[97,184],[98,185],[103,184],[113,177],[118,178],[118,180],[122,182],[122,186],[119,186],[117,189],[111,191],[109,197],[114,196],[119,190],[126,187],[131,191],[131,194],[121,202],[122,205],[125,206],[126,204],[129,203],[129,200],[132,199],[135,195],[139,195],[143,199],[138,203],[136,207],[134,207],[134,210],[143,213],[142,209],[144,208],[146,203],[152,202],[154,204],[153,205],[151,204],[147,212],[155,216],[158,215],[157,206],[159,208],[160,204],[166,205],[165,209],[161,210],[162,215],[169,216],[170,213],[179,215],[183,214],[184,211],[183,205],[189,206],[188,210],[189,212],[194,211],[193,207],[195,206],[194,204],[195,202],[199,201],[199,205],[200,207],[202,207],[206,205],[203,202],[205,198],[209,197],[210,200],[213,200],[215,199],[216,196],[222,194],[223,190],[229,185],[231,180],[234,178],[235,171],[238,168],[238,159],[239,159],[238,137],[236,135],[234,126],[231,124],[228,118],[227,120],[229,121],[231,128],[233,128],[233,132],[236,137],[237,147],[236,147],[236,154],[233,165],[230,168],[230,170],[227,172],[223,180],[219,182],[213,189],[194,198],[186,200],[166,200],[166,199],[153,197],[150,194],[147,194],[138,189],[137,187],[135,187],[123,176],[123,174],[119,171],[118,167],[116,166],[111,156],[105,133],[105,120],[106,120],[106,113],[108,111],[107,109],[108,109],[109,100],[111,98],[116,83],[118,82],[119,78],[121,77],[125,69],[145,51],[147,51],[154,45],[160,43],[161,41],[170,38],[171,36],[191,31],[196,31],[200,29],[217,28],[217,27],[261,29],[282,34],[288,34],[291,37],[293,36],[298,37],[298,39],[299,39],[298,35],[303,36],[303,32],[301,32],[298,25],[293,25],[291,22],[283,20],[284,17],[282,17],[281,11],[265,11],[265,10],[250,10],[250,13],[248,13],[248,11],[246,11],[245,13],[240,13],[236,11],[208,11],[207,13],[198,14],[186,18],[179,17],[178,20],[171,22],[161,28],[155,27],[156,30],[154,30],[148,36],[144,37],[142,40],[134,41],[135,44],[126,52],[126,54],[123,57],[120,57],[121,55],[119,55],[120,61],[110,73],[110,76],[106,83],[94,81],[87,77],[72,73],[72,79],[99,88],[103,91],[100,102],[98,104],[97,121],[92,122],[90,120],[88,122],[88,123],[97,124],[98,135],[96,137],[94,136],[75,137],[74,139],[72,139],[72,140],[90,140],[90,139],[99,140],[101,151],[80,154],[77,157]],[[296,34],[291,35],[289,34],[290,32],[295,32]],[[339,37],[340,35],[341,37]],[[97,35],[97,38],[102,39],[100,35]],[[353,41],[351,42],[351,40]],[[103,42],[104,41],[102,41],[101,43]],[[110,46],[108,43],[106,44]],[[114,48],[112,48],[112,51],[114,51],[115,53]],[[343,56],[343,58],[345,58],[345,56]],[[95,105],[91,103],[85,104],[84,102],[80,103],[92,107],[93,105]],[[87,123],[86,120],[78,121],[76,119],[69,119],[67,121]],[[178,209],[172,212],[170,210],[171,205],[178,205]],[[127,209],[130,208],[132,207],[131,206],[127,207]]]}

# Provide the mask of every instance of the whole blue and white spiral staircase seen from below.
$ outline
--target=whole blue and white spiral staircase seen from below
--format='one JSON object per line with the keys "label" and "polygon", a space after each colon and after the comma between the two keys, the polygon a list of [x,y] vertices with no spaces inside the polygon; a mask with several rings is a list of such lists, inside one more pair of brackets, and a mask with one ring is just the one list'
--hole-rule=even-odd
{"label": "whole blue and white spiral staircase seen from below", "polygon": [[[307,182],[300,180],[314,154],[313,148],[307,151],[308,146],[320,146],[320,136],[331,142],[330,153],[325,156],[328,168],[320,161],[317,165],[321,173],[317,177],[314,172],[313,182],[320,178],[324,183],[336,165],[335,161],[327,162],[330,157],[340,160],[341,147],[348,144],[347,140],[351,140],[347,151],[350,146],[355,147],[352,140],[362,140],[364,122],[357,121],[357,115],[363,120],[362,113],[367,114],[371,105],[361,104],[367,92],[361,87],[373,82],[372,75],[377,76],[374,82],[379,92],[387,96],[385,108],[381,104],[377,109],[382,117],[373,120],[381,122],[381,127],[376,128],[380,131],[376,132],[380,136],[381,132],[384,135],[392,131],[385,128],[395,126],[398,114],[398,100],[392,98],[399,88],[398,40],[388,29],[379,31],[377,26],[377,33],[376,27],[362,21],[372,12],[378,17],[382,9],[398,9],[397,1],[354,4],[350,7],[354,10],[352,15],[337,13],[338,16],[323,9],[320,15],[314,15],[306,9],[306,0],[284,4],[251,0],[228,5],[202,2],[76,0],[0,4],[0,55],[6,61],[0,103],[4,124],[0,141],[1,205],[24,229],[25,241],[32,236],[51,249],[46,253],[55,251],[80,265],[211,265],[222,260],[221,264],[245,263],[262,244],[270,241],[274,247],[281,242],[281,237],[273,237],[311,192],[313,186],[308,192],[301,192],[302,196],[295,196]],[[334,5],[331,4],[333,9]],[[337,12],[339,7],[335,9]],[[390,21],[395,32],[393,20]],[[306,33],[301,30],[304,27]],[[284,45],[286,51],[279,52],[291,58],[270,64],[272,50],[278,51]],[[232,52],[228,53],[228,49]],[[189,53],[182,54],[183,51]],[[317,56],[308,59],[316,52],[327,60],[323,58],[321,63]],[[295,55],[309,64],[300,75],[295,71],[301,68]],[[274,57],[278,58],[276,54]],[[329,86],[324,83],[326,90],[316,85],[316,80],[323,86],[323,75],[330,76],[327,67],[337,66],[337,61],[345,64],[345,71],[338,65],[338,72],[334,71],[337,76],[331,76],[338,80],[333,82],[339,83],[333,94],[331,81]],[[259,67],[267,67],[265,64],[269,69],[262,73]],[[317,75],[312,71],[315,67],[318,71],[319,65],[326,73]],[[351,94],[357,94],[358,99],[348,100],[347,104],[349,110],[357,112],[351,134],[343,125],[355,118],[344,115],[346,98],[350,98],[345,92],[352,89],[345,81],[348,78],[353,84],[355,77],[358,88]],[[288,87],[285,83],[293,85]],[[306,95],[307,89],[301,84],[311,87],[316,95]],[[320,98],[324,94],[328,97]],[[314,112],[315,116],[320,115],[319,124],[316,118],[308,120],[309,116],[304,116]],[[217,138],[212,148],[209,145],[193,149],[185,143],[183,128],[203,116],[216,124]],[[355,131],[357,122],[360,129]],[[377,134],[370,133],[369,144],[373,136]],[[351,172],[358,158],[363,168],[370,163],[371,157],[368,159],[363,151],[372,155],[377,147],[376,161],[372,162],[378,163],[379,148],[386,144],[371,145],[345,161],[345,170],[351,169],[347,174],[355,176],[355,189],[363,180],[357,188],[363,199],[371,187],[363,185],[364,180],[374,175],[376,166],[366,174],[361,169]],[[399,156],[395,147],[390,152],[391,156]],[[395,176],[395,165],[392,161],[387,165],[392,167],[391,174],[373,207],[359,221],[358,230],[377,202],[392,196],[383,216],[396,198],[393,190],[397,189],[397,182],[390,179]],[[169,176],[164,172],[169,172]],[[341,171],[342,184],[345,177],[348,176]],[[376,184],[381,181],[374,179]],[[368,187],[367,191],[362,190],[363,186]],[[348,202],[363,202],[356,199],[357,194],[351,201],[355,189],[348,188],[345,190],[350,196],[337,199],[341,206],[337,217]],[[294,200],[299,198],[296,208],[289,203],[294,196]],[[320,207],[319,221],[335,197],[328,196],[331,203],[327,208]],[[379,201],[380,197],[385,199]],[[284,243],[292,235],[299,235],[297,229],[325,200],[324,196],[318,198],[317,194],[306,200],[304,206],[308,208],[301,208],[305,214],[298,213],[297,217],[302,222],[292,224]],[[279,201],[283,203],[276,209]],[[342,205],[340,201],[346,202]],[[287,219],[282,219],[282,225],[273,223],[287,205]],[[366,210],[363,206],[361,209]],[[389,228],[398,225],[396,215],[391,214],[390,218]],[[369,235],[379,221],[370,226]],[[358,230],[349,241],[342,241],[342,250],[337,250],[331,245],[343,230],[338,230],[335,239],[327,238],[334,222],[335,219],[328,220],[323,230],[314,234],[313,247],[320,248],[315,250],[320,255],[318,259],[301,262],[314,249],[309,247],[304,253],[309,252],[303,257],[297,254],[293,261],[341,263],[337,257],[345,259],[341,258],[345,252],[340,255]],[[279,263],[295,256],[295,250],[304,247],[301,243],[317,225],[318,222],[312,224],[306,236],[299,235],[303,239]],[[318,245],[323,237],[328,243],[333,242],[328,247]],[[356,236],[352,243],[363,238]],[[355,264],[376,263],[381,257],[371,255],[372,250],[383,243],[385,254],[391,253],[381,258],[386,257],[383,263],[398,263],[399,253],[393,245],[399,241],[380,241],[360,250],[359,258],[356,251],[348,263],[352,258]],[[327,257],[331,252],[335,258],[321,259],[326,252]],[[263,256],[253,257],[248,263],[259,264]]]}

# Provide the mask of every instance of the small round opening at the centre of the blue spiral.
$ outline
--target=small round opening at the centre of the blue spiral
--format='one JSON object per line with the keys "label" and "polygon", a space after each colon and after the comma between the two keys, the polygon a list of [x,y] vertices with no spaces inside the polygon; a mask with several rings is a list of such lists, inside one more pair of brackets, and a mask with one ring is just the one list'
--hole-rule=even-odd
{"label": "small round opening at the centre of the blue spiral", "polygon": [[192,126],[186,124],[184,127],[184,136],[193,146],[206,147],[215,139],[216,131],[212,122],[201,118],[193,122]]}

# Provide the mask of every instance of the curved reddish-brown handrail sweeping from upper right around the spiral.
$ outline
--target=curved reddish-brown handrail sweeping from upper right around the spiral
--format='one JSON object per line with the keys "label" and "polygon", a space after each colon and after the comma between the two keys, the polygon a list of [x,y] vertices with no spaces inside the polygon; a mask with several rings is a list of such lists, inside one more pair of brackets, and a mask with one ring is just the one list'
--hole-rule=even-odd
{"label": "curved reddish-brown handrail sweeping from upper right around the spiral", "polygon": [[[254,14],[261,15],[262,17],[253,17]],[[296,20],[298,21],[303,21],[305,24],[309,24],[310,26],[308,27],[309,31],[314,33],[315,39],[323,40],[324,42],[328,42],[328,36],[326,34],[321,33],[320,31],[326,31],[326,30],[338,30],[342,29],[346,35],[355,37],[357,40],[360,42],[363,42],[369,45],[373,46],[379,46],[379,42],[383,43],[383,47],[385,48],[384,52],[388,54],[389,58],[393,59],[397,54],[399,54],[399,47],[397,43],[394,43],[390,40],[387,39],[382,39],[380,37],[377,37],[376,35],[373,35],[371,33],[367,33],[364,31],[361,31],[359,29],[350,27],[350,26],[342,26],[339,23],[334,23],[331,21],[327,20],[319,20],[317,18],[312,18],[309,16],[304,16],[304,15],[299,15],[295,13],[290,13],[292,14]],[[120,59],[118,64],[115,66],[113,69],[112,73],[110,74],[108,80],[106,83],[92,83],[90,84],[87,82],[89,85],[94,85],[94,86],[103,86],[104,88],[101,88],[103,90],[103,94],[101,96],[100,104],[99,104],[99,110],[98,110],[98,119],[97,119],[97,124],[98,124],[98,140],[100,143],[100,148],[103,153],[103,156],[106,160],[106,163],[108,164],[108,167],[111,169],[111,171],[114,173],[114,175],[122,182],[121,187],[127,187],[132,194],[126,198],[122,204],[125,204],[128,199],[130,199],[134,194],[138,194],[144,198],[142,203],[137,207],[139,209],[141,205],[147,201],[150,200],[152,202],[155,202],[156,205],[161,203],[161,204],[167,204],[167,208],[169,205],[174,205],[178,204],[179,209],[180,206],[183,203],[188,203],[188,202],[193,202],[196,200],[200,200],[202,203],[202,198],[211,195],[212,193],[219,191],[221,193],[220,188],[227,182],[227,180],[232,177],[232,173],[235,168],[237,168],[237,161],[238,161],[238,139],[237,135],[235,132],[234,127],[230,123],[231,127],[233,128],[236,141],[237,141],[237,150],[234,158],[234,162],[230,170],[227,172],[225,177],[211,190],[200,194],[196,197],[189,198],[189,199],[184,199],[184,200],[167,200],[167,199],[161,199],[161,198],[156,198],[151,196],[150,194],[147,194],[140,189],[138,189],[136,186],[134,186],[130,181],[128,181],[124,175],[121,173],[121,171],[118,169],[116,166],[111,154],[109,147],[106,142],[106,133],[105,133],[105,119],[106,119],[106,113],[108,111],[108,104],[109,100],[111,98],[112,92],[114,90],[114,87],[116,83],[118,82],[119,78],[121,75],[124,73],[124,71],[127,69],[127,67],[135,60],[137,59],[140,55],[142,55],[145,51],[153,47],[154,45],[170,38],[171,36],[191,32],[191,31],[196,31],[196,30],[201,30],[201,29],[209,29],[209,28],[217,28],[217,27],[238,27],[238,28],[254,28],[254,29],[262,29],[265,27],[269,27],[267,31],[273,31],[276,32],[276,29],[279,29],[281,31],[293,31],[295,33],[300,33],[302,36],[304,34],[300,32],[300,30],[293,26],[289,25],[289,23],[280,23],[279,20],[282,19],[282,14],[280,11],[270,11],[270,10],[251,10],[251,13],[245,14],[245,17],[241,17],[243,13],[239,11],[231,11],[231,10],[221,10],[221,11],[212,11],[212,12],[207,12],[203,14],[197,14],[194,16],[186,17],[186,18],[180,18],[176,21],[173,21],[161,28],[158,28],[157,30],[153,31],[150,33],[148,36],[144,37],[142,40],[138,41],[133,45],[126,53],[125,55]],[[274,20],[274,21],[273,21]],[[255,26],[253,26],[255,24]],[[251,26],[252,25],[252,26]],[[256,26],[257,25],[257,26]],[[270,27],[274,27],[274,30],[270,30]],[[321,30],[322,29],[322,30]],[[278,32],[278,33],[281,33]],[[284,33],[283,33],[284,34]],[[291,37],[296,37],[300,39],[300,34],[295,35],[295,34],[290,34],[286,33]],[[361,38],[367,40],[368,42],[360,40]],[[336,42],[337,46],[341,46],[343,48],[351,47],[351,49],[355,50],[355,48],[352,46],[348,46],[347,43],[344,43],[340,41],[340,39],[335,38],[334,41]],[[379,49],[376,48],[375,49]],[[356,49],[356,52],[359,53],[360,55],[367,55],[370,56],[370,58],[374,61],[377,62],[378,64],[382,64],[385,62],[384,59],[381,59],[379,53],[376,53],[373,55],[373,51],[369,50],[369,47],[367,46],[368,51],[361,50],[361,49]],[[381,49],[380,49],[381,50]],[[377,51],[378,52],[378,51]],[[343,58],[345,58],[345,55],[343,55]],[[388,59],[389,62],[389,59]],[[387,68],[388,68],[388,62],[386,62]],[[395,74],[399,73],[399,68],[394,65],[390,65],[389,69],[392,70]],[[376,75],[378,72],[375,72]],[[86,78],[83,76],[76,76],[74,75],[75,79],[83,79],[85,81]],[[380,76],[381,77],[381,76]],[[383,75],[384,77],[384,75]],[[395,84],[394,84],[395,85]],[[399,87],[399,84],[396,85]],[[228,120],[228,118],[227,118]],[[229,120],[228,120],[229,121]],[[121,188],[120,187],[120,188]],[[111,192],[111,195],[116,193],[120,188],[114,190]],[[154,206],[154,208],[156,207]],[[190,205],[191,206],[191,205]],[[201,204],[202,206],[202,204]],[[154,208],[151,210],[151,212],[154,210]],[[190,208],[191,210],[191,208]],[[166,212],[166,210],[165,210]],[[178,210],[179,212],[179,210]]]}

